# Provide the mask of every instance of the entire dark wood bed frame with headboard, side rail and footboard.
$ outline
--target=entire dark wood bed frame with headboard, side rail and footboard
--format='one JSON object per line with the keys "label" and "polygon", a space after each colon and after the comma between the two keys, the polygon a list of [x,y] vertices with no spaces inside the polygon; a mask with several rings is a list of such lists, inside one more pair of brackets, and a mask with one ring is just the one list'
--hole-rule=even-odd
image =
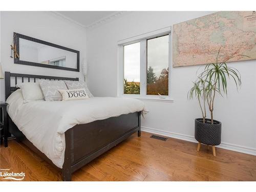
{"label": "entire dark wood bed frame with headboard, side rail and footboard", "polygon": [[[11,86],[11,78],[32,79],[49,79],[49,80],[78,80],[78,78],[68,77],[54,77],[42,75],[28,75],[5,72],[5,95],[6,99],[10,94],[19,89],[15,85]],[[141,112],[120,115],[118,117],[111,117],[108,119],[97,120],[87,124],[78,124],[65,132],[66,150],[65,161],[62,169],[52,163],[45,154],[40,152],[26,137],[20,132],[17,126],[13,123],[8,116],[9,132],[13,134],[18,141],[23,142],[32,151],[38,154],[42,159],[53,165],[61,171],[63,181],[71,181],[71,174],[77,169],[86,165],[93,159],[97,158],[104,152],[110,150],[113,146],[125,140],[132,134],[138,132],[140,137],[140,116]]]}

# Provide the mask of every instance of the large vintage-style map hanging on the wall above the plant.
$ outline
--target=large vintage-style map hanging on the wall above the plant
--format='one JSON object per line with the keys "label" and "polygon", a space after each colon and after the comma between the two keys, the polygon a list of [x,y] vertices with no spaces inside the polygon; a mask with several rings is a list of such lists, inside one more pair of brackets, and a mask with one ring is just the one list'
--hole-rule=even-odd
{"label": "large vintage-style map hanging on the wall above the plant", "polygon": [[216,62],[220,48],[219,61],[256,59],[255,11],[220,11],[173,29],[173,67]]}

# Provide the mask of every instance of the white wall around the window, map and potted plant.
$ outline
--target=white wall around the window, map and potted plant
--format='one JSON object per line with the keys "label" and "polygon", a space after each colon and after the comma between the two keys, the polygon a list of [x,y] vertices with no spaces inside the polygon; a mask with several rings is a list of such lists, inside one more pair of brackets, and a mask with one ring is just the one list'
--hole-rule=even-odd
{"label": "white wall around the window, map and potted plant", "polygon": [[[132,12],[87,31],[88,83],[95,96],[117,95],[117,41],[161,29],[212,12]],[[239,93],[229,86],[228,99],[217,98],[214,118],[222,122],[223,148],[256,155],[256,63],[230,63],[242,74]],[[150,111],[144,130],[194,140],[194,119],[201,117],[196,100],[187,100],[199,66],[171,68],[174,102],[144,101]],[[147,129],[146,129],[147,127]]]}

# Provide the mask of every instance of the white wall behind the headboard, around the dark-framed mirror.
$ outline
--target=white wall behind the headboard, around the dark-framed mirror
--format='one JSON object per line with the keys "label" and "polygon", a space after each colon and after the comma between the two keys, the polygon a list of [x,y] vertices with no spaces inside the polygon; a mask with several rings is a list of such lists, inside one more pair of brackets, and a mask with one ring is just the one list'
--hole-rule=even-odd
{"label": "white wall behind the headboard, around the dark-framed mirror", "polygon": [[[82,73],[14,64],[10,58],[13,32],[35,37],[80,51],[80,61],[86,57],[86,30],[51,12],[1,12],[1,63],[4,71],[35,75],[79,77]],[[81,71],[81,63],[80,63]],[[1,101],[5,100],[5,81],[0,80]]]}

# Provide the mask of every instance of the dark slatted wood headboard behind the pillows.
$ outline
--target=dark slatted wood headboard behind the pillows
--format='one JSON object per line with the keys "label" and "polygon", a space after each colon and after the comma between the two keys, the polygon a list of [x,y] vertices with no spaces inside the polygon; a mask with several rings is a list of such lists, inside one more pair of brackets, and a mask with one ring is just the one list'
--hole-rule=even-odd
{"label": "dark slatted wood headboard behind the pillows", "polygon": [[[11,86],[11,77],[15,78],[14,86]],[[27,82],[30,82],[32,79],[34,82],[36,79],[49,79],[49,80],[71,80],[71,81],[78,81],[79,78],[70,78],[70,77],[55,77],[55,76],[44,76],[44,75],[30,75],[30,74],[20,74],[20,73],[11,73],[5,72],[5,99],[7,99],[12,92],[16,91],[19,88],[16,88],[17,78],[21,78],[22,82],[24,79],[28,79]]]}

